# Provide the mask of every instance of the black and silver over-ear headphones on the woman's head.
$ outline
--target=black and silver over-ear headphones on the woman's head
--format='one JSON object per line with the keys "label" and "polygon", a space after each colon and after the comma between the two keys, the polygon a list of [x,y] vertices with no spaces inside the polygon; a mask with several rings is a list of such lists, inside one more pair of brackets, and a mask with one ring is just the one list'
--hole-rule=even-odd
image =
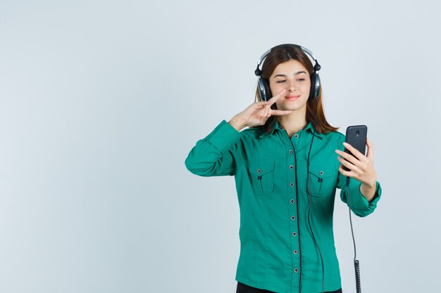
{"label": "black and silver over-ear headphones on the woman's head", "polygon": [[309,98],[311,99],[316,99],[318,97],[318,94],[320,93],[320,77],[318,76],[318,70],[320,70],[321,66],[320,64],[318,64],[316,56],[314,56],[314,54],[309,51],[307,48],[304,48],[302,46],[299,45],[295,45],[295,44],[281,44],[278,46],[275,46],[271,49],[269,49],[268,51],[266,51],[265,53],[263,53],[263,55],[261,56],[261,58],[259,58],[259,61],[257,62],[257,68],[254,71],[254,74],[256,74],[259,79],[257,81],[257,89],[259,91],[259,95],[261,97],[261,100],[269,100],[273,94],[271,93],[270,90],[270,84],[268,82],[268,79],[264,79],[263,77],[261,77],[262,71],[259,69],[259,66],[262,64],[263,60],[266,58],[266,56],[268,56],[268,54],[274,50],[275,48],[279,48],[279,47],[288,47],[288,46],[294,46],[296,48],[299,48],[300,50],[304,51],[304,53],[308,54],[312,60],[314,60],[314,62],[316,63],[314,65],[314,72],[310,75],[311,77],[311,90],[309,91]]}

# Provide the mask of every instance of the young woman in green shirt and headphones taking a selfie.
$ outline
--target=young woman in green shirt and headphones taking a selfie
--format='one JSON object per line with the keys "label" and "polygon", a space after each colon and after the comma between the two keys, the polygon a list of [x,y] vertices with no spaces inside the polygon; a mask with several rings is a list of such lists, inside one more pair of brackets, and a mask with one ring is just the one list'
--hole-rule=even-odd
{"label": "young woman in green shirt and headphones taking a selfie", "polygon": [[358,216],[371,214],[380,199],[373,145],[367,140],[365,156],[328,124],[316,87],[320,67],[305,52],[315,59],[294,44],[262,56],[256,74],[266,91],[258,85],[258,101],[218,124],[185,160],[199,176],[235,176],[237,293],[342,292],[333,236],[335,190],[341,189],[347,203],[349,176],[350,207]]}

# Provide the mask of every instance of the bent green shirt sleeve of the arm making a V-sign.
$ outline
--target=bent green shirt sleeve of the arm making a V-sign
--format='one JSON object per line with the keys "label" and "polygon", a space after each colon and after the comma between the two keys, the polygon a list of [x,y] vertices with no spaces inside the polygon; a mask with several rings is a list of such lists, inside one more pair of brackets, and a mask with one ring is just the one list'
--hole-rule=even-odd
{"label": "bent green shirt sleeve of the arm making a V-sign", "polygon": [[223,120],[197,141],[185,159],[188,171],[199,176],[235,175],[240,156],[240,131]]}

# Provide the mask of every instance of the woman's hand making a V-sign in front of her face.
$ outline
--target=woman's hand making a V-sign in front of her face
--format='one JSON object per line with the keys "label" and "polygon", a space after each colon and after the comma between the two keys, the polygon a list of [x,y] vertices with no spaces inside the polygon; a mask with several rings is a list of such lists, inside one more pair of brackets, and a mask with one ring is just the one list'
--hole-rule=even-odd
{"label": "woman's hand making a V-sign in front of her face", "polygon": [[[271,109],[271,105],[283,96],[285,91],[286,89],[283,89],[276,96],[273,96],[273,98],[267,101],[252,103],[245,110],[233,117],[229,123],[236,129],[242,129],[246,126],[263,125],[271,115],[287,115],[292,113],[292,110]],[[242,126],[240,126],[240,124],[242,124]]]}

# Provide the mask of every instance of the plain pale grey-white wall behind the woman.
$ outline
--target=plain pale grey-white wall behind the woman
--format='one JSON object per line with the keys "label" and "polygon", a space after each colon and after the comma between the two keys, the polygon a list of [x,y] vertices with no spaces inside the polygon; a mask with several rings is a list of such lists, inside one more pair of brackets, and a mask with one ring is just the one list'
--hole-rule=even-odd
{"label": "plain pale grey-white wall behind the woman", "polygon": [[[234,178],[185,169],[254,101],[282,43],[322,66],[325,114],[368,125],[383,185],[354,218],[363,292],[438,292],[437,1],[0,2],[0,291],[235,292]],[[347,207],[335,237],[355,292]]]}

